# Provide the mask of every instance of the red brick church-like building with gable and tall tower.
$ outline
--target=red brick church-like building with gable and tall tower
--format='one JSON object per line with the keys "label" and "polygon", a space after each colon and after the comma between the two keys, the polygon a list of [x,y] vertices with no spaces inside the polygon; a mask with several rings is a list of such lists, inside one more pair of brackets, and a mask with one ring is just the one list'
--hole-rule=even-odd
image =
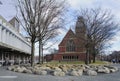
{"label": "red brick church-like building with gable and tall tower", "polygon": [[83,18],[79,17],[75,32],[69,29],[59,44],[58,53],[46,55],[45,59],[46,61],[80,61],[85,60],[85,53],[85,27]]}

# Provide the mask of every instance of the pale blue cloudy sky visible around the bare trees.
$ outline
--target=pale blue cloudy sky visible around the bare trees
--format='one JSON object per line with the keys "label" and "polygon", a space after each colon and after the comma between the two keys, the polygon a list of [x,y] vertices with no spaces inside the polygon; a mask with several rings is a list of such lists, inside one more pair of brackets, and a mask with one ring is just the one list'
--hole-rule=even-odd
{"label": "pale blue cloudy sky visible around the bare trees", "polygon": [[[12,17],[16,16],[16,8],[14,6],[16,0],[0,0],[3,4],[0,5],[0,15],[2,15],[6,20],[10,20]],[[70,4],[72,10],[78,10],[80,8],[96,8],[101,7],[102,9],[111,10],[111,13],[116,16],[116,20],[120,21],[120,0],[67,0]],[[71,13],[72,13],[71,10]],[[70,26],[67,27],[69,29]],[[58,48],[58,44],[62,41],[62,38],[66,34],[66,31],[61,31],[59,41],[53,46],[53,48]],[[117,34],[113,45],[109,51],[120,50],[120,33]],[[52,42],[49,42],[51,45]],[[36,51],[36,53],[38,50]],[[46,52],[47,53],[47,52]],[[36,54],[37,55],[37,54]]]}

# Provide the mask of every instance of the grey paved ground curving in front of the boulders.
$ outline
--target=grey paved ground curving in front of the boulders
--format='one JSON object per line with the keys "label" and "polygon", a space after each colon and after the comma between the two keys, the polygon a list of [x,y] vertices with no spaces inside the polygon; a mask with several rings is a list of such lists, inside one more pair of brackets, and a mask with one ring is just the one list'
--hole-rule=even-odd
{"label": "grey paved ground curving in front of the boulders", "polygon": [[[114,64],[114,66],[117,66],[120,70],[120,64]],[[56,77],[16,73],[0,67],[0,81],[120,81],[120,71],[111,74],[99,74],[97,76]]]}

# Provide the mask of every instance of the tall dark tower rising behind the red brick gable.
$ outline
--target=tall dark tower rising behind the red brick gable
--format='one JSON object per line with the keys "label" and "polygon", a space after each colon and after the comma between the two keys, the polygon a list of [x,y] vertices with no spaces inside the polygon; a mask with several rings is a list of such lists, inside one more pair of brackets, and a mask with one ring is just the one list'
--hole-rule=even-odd
{"label": "tall dark tower rising behind the red brick gable", "polygon": [[82,16],[78,17],[77,19],[75,33],[77,37],[82,39],[85,38],[86,28],[85,28],[84,18]]}

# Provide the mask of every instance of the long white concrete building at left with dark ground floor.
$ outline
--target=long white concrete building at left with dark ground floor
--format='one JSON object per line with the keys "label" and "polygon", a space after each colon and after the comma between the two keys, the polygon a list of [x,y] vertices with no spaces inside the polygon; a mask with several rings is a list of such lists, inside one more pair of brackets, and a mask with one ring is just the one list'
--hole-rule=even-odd
{"label": "long white concrete building at left with dark ground floor", "polygon": [[11,63],[26,63],[30,58],[31,45],[19,33],[19,20],[14,17],[7,22],[0,16],[0,63],[6,58]]}

